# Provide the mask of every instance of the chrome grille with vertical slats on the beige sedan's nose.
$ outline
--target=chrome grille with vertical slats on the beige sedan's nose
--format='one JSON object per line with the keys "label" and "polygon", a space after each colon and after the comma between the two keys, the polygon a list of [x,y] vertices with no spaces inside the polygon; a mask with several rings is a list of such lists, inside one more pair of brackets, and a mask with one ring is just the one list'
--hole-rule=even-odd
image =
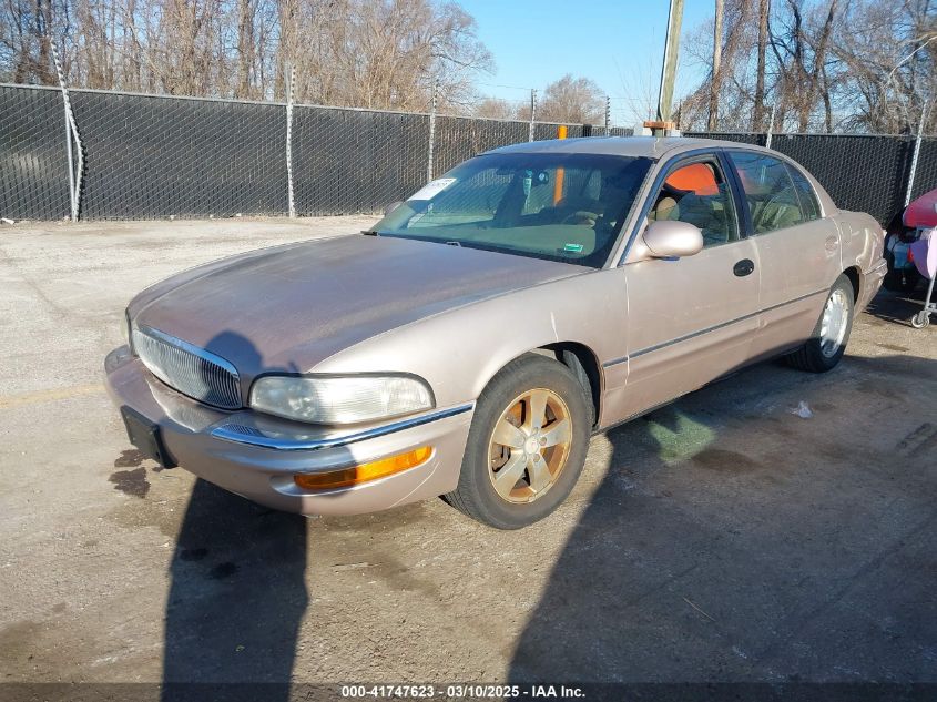
{"label": "chrome grille with vertical slats on the beige sedan's nose", "polygon": [[133,350],[154,376],[183,395],[223,409],[242,406],[237,370],[221,356],[150,327],[133,329]]}

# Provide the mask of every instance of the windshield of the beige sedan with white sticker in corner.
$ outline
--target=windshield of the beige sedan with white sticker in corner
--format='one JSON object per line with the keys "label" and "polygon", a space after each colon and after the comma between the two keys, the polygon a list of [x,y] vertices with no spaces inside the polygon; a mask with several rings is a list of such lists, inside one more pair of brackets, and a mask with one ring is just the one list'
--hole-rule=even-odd
{"label": "windshield of the beige sedan with white sticker in corner", "polygon": [[603,154],[482,155],[425,185],[375,233],[598,268],[650,164]]}

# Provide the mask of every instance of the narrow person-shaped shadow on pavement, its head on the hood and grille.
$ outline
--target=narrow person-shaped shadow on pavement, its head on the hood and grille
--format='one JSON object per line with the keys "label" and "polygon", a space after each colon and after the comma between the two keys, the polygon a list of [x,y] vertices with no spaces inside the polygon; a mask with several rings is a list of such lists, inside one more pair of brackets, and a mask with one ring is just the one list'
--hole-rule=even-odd
{"label": "narrow person-shaped shadow on pavement, its head on the hood and grille", "polygon": [[[222,357],[233,347],[241,363],[262,367],[234,333],[206,346]],[[307,530],[302,515],[196,480],[169,572],[162,700],[289,699],[309,600]]]}

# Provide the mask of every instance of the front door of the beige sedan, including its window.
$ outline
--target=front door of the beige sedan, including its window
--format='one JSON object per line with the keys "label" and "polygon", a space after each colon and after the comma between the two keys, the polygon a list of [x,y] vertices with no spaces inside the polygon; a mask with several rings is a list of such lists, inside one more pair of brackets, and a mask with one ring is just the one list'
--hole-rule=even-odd
{"label": "front door of the beige sedan, including its window", "polygon": [[[741,366],[757,329],[757,253],[742,235],[740,202],[717,152],[678,157],[658,176],[641,232],[653,220],[699,226],[704,248],[675,261],[629,263],[628,379],[609,388],[624,419]],[[640,235],[640,234],[639,234]],[[607,368],[607,377],[614,377]]]}

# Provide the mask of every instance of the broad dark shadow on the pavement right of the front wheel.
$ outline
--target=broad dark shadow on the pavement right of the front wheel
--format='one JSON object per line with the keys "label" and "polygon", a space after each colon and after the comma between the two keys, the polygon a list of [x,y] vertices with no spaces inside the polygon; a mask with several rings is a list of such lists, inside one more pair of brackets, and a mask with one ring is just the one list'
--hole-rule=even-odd
{"label": "broad dark shadow on the pavement right of the front wheel", "polygon": [[631,685],[597,699],[928,680],[935,368],[763,364],[610,430],[509,679]]}

